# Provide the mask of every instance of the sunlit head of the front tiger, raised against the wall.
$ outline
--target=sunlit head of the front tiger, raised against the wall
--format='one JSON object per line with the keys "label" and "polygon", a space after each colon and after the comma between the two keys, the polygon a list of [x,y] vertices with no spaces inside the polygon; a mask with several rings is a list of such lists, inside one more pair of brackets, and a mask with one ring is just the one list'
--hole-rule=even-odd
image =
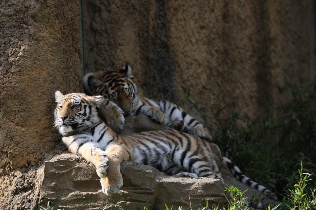
{"label": "sunlit head of the front tiger, raised against the wall", "polygon": [[103,96],[87,96],[82,93],[63,95],[55,92],[57,108],[55,109],[55,127],[62,135],[80,131],[98,121],[96,107],[104,101]]}

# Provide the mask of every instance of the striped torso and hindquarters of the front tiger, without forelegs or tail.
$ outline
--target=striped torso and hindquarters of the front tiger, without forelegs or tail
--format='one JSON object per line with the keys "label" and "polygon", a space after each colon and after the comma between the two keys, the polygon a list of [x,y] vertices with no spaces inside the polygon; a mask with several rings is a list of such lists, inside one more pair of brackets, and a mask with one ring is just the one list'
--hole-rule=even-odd
{"label": "striped torso and hindquarters of the front tiger, without forelegs or tail", "polygon": [[154,166],[167,175],[188,172],[222,179],[209,143],[197,136],[176,130],[144,131],[123,136],[122,140],[133,151],[133,161]]}

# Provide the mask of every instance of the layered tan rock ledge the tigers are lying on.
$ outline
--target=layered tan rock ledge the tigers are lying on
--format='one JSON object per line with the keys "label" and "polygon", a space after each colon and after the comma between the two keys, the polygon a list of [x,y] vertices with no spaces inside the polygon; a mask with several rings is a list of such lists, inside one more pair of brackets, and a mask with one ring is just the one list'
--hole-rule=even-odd
{"label": "layered tan rock ledge the tigers are lying on", "polygon": [[[162,130],[169,129],[166,126],[155,126],[156,123],[149,117],[140,115],[137,117],[126,117],[126,126],[120,133],[123,135],[135,130]],[[219,179],[184,178],[167,176],[152,166],[126,161],[121,164],[124,185],[116,195],[106,196],[102,193],[100,178],[95,172],[95,166],[84,160],[79,155],[70,154],[67,151],[56,155],[44,163],[39,173],[42,173],[42,184],[40,187],[41,206],[51,201],[55,208],[100,210],[105,205],[109,209],[143,209],[148,201],[149,210],[163,210],[164,203],[169,207],[176,208],[186,206],[185,201],[191,197],[193,209],[205,204],[227,204],[224,192],[229,184],[237,186],[240,190],[249,189],[240,183],[229,172],[228,168],[222,166],[221,151],[215,144],[210,144],[214,153],[216,163],[225,179],[223,183]],[[227,185],[228,184],[228,185]],[[252,195],[257,190],[250,188],[246,196]],[[270,201],[270,203],[276,203]],[[189,206],[186,206],[189,208]],[[39,209],[39,208],[38,208]]]}

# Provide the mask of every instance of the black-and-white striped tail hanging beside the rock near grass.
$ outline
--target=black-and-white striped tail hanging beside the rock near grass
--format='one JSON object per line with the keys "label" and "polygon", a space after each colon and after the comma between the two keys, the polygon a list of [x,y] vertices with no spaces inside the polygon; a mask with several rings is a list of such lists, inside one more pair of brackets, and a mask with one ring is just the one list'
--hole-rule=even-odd
{"label": "black-and-white striped tail hanging beside the rock near grass", "polygon": [[[262,192],[267,198],[272,199],[274,201],[277,201],[277,197],[274,193],[272,193],[270,190],[268,190],[266,187],[252,181],[250,178],[246,177],[245,174],[243,174],[240,169],[227,157],[222,157],[222,163],[225,164],[229,170],[232,172],[235,178],[237,178],[240,182]],[[270,193],[270,195],[266,195],[267,193]]]}

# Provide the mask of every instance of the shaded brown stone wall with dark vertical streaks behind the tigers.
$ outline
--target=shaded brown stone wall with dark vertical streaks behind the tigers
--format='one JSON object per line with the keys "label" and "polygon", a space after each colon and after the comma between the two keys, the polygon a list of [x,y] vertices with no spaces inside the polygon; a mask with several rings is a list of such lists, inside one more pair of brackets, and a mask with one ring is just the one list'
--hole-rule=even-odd
{"label": "shaded brown stone wall with dark vertical streaks behind the tigers", "polygon": [[83,19],[86,73],[128,62],[143,96],[181,105],[185,87],[209,116],[222,90],[227,111],[263,119],[315,74],[311,0],[83,0]]}

